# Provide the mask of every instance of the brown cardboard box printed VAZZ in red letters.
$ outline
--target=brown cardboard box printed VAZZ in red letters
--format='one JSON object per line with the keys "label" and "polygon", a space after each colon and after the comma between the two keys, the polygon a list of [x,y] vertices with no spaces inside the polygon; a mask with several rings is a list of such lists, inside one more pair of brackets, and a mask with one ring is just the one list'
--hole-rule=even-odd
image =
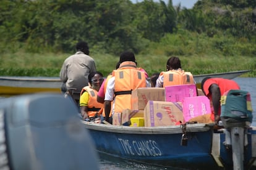
{"label": "brown cardboard box printed VAZZ in red letters", "polygon": [[181,102],[149,100],[144,110],[145,126],[168,126],[184,122]]}

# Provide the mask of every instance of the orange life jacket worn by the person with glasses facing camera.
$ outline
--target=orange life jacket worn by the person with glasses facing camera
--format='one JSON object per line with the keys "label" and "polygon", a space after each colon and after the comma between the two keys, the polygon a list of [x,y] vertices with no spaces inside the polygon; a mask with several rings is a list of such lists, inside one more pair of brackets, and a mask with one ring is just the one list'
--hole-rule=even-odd
{"label": "orange life jacket worn by the person with glasses facing camera", "polygon": [[96,113],[100,115],[102,113],[104,104],[97,102],[97,94],[98,91],[95,89],[92,89],[90,86],[83,87],[82,91],[80,92],[80,96],[83,94],[83,92],[87,91],[89,94],[89,101],[88,101],[88,116],[94,117]]}

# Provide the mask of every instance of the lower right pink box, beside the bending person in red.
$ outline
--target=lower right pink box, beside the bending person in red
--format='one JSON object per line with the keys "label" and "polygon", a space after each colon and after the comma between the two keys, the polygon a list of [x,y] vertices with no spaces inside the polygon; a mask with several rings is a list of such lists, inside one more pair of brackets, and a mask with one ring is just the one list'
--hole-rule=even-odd
{"label": "lower right pink box, beside the bending person in red", "polygon": [[182,108],[186,122],[191,118],[211,113],[210,100],[204,95],[185,97]]}

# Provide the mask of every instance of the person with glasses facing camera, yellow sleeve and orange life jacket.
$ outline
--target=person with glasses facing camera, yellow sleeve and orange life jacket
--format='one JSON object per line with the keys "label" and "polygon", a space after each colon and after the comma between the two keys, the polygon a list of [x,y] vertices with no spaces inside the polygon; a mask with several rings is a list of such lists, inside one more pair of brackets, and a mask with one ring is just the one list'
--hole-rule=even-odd
{"label": "person with glasses facing camera, yellow sleeve and orange life jacket", "polygon": [[83,120],[92,120],[99,117],[103,110],[103,103],[97,102],[97,94],[104,81],[102,73],[95,71],[88,76],[89,86],[83,87],[80,92],[80,112]]}

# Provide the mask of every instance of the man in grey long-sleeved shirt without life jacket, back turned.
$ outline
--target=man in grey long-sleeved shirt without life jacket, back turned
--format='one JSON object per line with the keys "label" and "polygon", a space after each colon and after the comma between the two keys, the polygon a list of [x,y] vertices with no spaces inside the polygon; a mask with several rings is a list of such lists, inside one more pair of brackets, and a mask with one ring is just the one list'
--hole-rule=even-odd
{"label": "man in grey long-sleeved shirt without life jacket, back turned", "polygon": [[74,89],[72,97],[79,105],[80,92],[83,87],[88,86],[88,75],[96,71],[96,66],[93,58],[89,56],[87,42],[78,42],[76,50],[74,55],[64,61],[59,78],[63,82],[61,91]]}

